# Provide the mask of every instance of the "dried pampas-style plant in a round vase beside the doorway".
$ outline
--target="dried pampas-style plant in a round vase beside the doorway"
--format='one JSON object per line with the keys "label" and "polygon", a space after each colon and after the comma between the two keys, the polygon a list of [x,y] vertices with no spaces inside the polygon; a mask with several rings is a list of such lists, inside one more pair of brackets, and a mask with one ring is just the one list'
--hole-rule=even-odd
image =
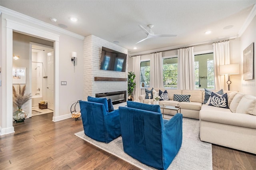
{"label": "dried pampas-style plant in a round vase beside the doorway", "polygon": [[12,114],[14,122],[23,122],[24,119],[28,116],[26,111],[22,111],[22,105],[31,99],[31,95],[25,95],[26,85],[22,88],[18,85],[18,90],[16,91],[15,87],[12,86],[12,97],[13,103],[17,105],[17,111]]}

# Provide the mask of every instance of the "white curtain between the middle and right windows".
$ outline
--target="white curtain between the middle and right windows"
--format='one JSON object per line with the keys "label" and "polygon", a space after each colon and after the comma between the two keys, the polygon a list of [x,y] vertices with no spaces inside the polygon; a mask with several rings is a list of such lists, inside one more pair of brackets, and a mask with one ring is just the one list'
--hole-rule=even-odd
{"label": "white curtain between the middle and right windows", "polygon": [[178,49],[178,89],[195,89],[194,47]]}

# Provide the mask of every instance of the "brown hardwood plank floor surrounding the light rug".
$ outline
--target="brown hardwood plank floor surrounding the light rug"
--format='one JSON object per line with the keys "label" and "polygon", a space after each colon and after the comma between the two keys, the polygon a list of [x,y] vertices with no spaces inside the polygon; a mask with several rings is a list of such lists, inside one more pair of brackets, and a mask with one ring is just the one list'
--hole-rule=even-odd
{"label": "brown hardwood plank floor surrounding the light rug", "polygon": [[[139,170],[78,138],[82,120],[54,123],[52,113],[14,123],[14,134],[0,136],[0,170]],[[256,155],[212,145],[213,170],[256,170]]]}

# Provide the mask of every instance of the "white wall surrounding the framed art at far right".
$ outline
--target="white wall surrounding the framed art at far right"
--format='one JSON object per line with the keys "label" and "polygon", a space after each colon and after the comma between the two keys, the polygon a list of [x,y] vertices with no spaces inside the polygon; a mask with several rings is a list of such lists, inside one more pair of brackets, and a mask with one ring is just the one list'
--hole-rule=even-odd
{"label": "white wall surrounding the framed art at far right", "polygon": [[246,28],[245,32],[241,36],[240,42],[240,66],[241,66],[241,74],[243,73],[243,51],[246,49],[251,43],[254,42],[254,75],[252,80],[243,80],[243,76],[241,76],[240,84],[241,84],[241,92],[246,94],[251,94],[256,96],[256,17],[252,20],[250,25]]}

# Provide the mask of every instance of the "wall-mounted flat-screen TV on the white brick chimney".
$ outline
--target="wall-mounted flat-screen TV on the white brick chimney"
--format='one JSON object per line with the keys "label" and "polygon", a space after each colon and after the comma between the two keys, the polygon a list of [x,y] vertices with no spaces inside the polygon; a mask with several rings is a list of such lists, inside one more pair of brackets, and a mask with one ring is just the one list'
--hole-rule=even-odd
{"label": "wall-mounted flat-screen TV on the white brick chimney", "polygon": [[102,47],[100,69],[125,72],[126,57],[127,54]]}

